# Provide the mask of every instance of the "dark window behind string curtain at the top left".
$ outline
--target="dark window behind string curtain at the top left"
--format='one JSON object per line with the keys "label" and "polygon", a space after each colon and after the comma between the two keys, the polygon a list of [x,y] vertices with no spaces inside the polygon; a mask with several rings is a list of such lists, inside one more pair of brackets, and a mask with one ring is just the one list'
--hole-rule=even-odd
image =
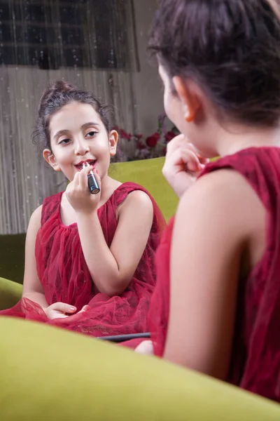
{"label": "dark window behind string curtain at the top left", "polygon": [[0,64],[130,69],[131,6],[130,0],[1,0]]}

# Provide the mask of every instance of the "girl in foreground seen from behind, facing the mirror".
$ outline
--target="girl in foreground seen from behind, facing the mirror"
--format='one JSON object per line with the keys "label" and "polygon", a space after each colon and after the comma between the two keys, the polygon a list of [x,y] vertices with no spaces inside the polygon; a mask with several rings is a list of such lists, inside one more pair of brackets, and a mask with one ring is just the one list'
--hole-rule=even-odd
{"label": "girl in foreground seen from behind, facing the mirror", "polygon": [[276,401],[279,20],[273,0],[162,0],[150,40],[182,133],[164,168],[181,201],[157,255],[153,352]]}

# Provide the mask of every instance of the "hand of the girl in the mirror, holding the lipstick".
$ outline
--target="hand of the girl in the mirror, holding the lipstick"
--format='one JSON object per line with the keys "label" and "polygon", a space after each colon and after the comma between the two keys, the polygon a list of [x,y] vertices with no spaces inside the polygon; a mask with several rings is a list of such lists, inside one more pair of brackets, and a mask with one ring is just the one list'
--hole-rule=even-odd
{"label": "hand of the girl in the mirror, holding the lipstick", "polygon": [[[77,213],[91,214],[98,208],[100,192],[98,194],[91,194],[87,185],[87,174],[89,174],[91,170],[93,170],[93,167],[87,166],[76,173],[65,191],[69,203]],[[99,188],[101,188],[99,175],[96,171],[93,171],[93,173]]]}

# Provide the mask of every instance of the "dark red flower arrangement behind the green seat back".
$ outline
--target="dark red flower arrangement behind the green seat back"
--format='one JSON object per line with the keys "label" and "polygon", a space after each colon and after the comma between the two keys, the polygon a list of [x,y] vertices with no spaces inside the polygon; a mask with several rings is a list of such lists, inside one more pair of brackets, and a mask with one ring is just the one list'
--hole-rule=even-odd
{"label": "dark red flower arrangement behind the green seat back", "polygon": [[166,114],[158,116],[158,130],[148,138],[140,134],[127,133],[123,128],[115,127],[119,134],[118,161],[136,161],[139,159],[157,158],[165,156],[167,143],[176,135],[178,129],[173,126],[167,129]]}

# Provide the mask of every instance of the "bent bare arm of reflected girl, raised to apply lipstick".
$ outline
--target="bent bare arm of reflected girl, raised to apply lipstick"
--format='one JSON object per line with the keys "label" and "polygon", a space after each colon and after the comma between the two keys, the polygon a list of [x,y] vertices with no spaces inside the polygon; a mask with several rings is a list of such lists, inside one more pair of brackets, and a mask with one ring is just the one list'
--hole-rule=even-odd
{"label": "bent bare arm of reflected girl, raised to apply lipstick", "polygon": [[101,293],[120,295],[129,285],[144,253],[153,223],[153,203],[145,192],[127,195],[118,212],[118,227],[109,248],[97,210],[77,213],[85,262]]}

